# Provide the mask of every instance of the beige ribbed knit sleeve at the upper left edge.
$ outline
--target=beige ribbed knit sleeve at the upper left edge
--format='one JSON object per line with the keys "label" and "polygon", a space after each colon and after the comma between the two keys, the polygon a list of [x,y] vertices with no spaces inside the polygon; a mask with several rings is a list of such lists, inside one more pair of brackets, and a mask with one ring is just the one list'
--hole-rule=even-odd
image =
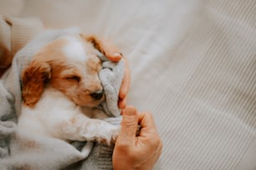
{"label": "beige ribbed knit sleeve at the upper left edge", "polygon": [[38,18],[0,15],[0,77],[10,67],[15,53],[43,28]]}

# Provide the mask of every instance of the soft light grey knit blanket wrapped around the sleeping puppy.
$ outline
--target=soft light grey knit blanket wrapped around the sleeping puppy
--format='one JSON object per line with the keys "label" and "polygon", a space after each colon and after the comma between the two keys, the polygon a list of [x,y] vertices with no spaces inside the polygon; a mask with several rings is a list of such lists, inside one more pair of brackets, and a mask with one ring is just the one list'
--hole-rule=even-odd
{"label": "soft light grey knit blanket wrapped around the sleeping puppy", "polygon": [[[56,138],[32,138],[29,134],[19,136],[16,133],[22,104],[20,75],[23,68],[47,43],[67,34],[78,33],[78,28],[40,33],[15,55],[12,67],[3,75],[0,81],[0,169],[112,169],[113,146],[66,143]],[[103,60],[100,80],[106,96],[105,103],[100,107],[111,116],[105,121],[120,124],[117,102],[124,62],[114,63],[104,56],[100,58]],[[80,149],[86,144],[91,152],[84,158]]]}

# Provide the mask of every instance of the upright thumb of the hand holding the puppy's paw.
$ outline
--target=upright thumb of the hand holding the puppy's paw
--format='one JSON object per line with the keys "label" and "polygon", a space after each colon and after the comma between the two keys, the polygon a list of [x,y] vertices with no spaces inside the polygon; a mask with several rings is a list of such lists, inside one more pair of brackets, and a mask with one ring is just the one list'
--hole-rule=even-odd
{"label": "upright thumb of the hand holding the puppy's paw", "polygon": [[139,114],[135,107],[126,107],[123,111],[119,140],[121,143],[135,143]]}

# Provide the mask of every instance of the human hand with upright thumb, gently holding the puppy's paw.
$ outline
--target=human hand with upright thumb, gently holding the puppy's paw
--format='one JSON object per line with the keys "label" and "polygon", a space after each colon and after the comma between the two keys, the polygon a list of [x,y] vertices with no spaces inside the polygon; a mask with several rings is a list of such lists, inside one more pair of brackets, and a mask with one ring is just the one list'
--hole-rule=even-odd
{"label": "human hand with upright thumb, gently holding the puppy's paw", "polygon": [[[138,124],[141,129],[136,136]],[[151,113],[138,113],[135,107],[125,108],[112,157],[114,169],[152,169],[161,155],[161,148],[161,138]]]}

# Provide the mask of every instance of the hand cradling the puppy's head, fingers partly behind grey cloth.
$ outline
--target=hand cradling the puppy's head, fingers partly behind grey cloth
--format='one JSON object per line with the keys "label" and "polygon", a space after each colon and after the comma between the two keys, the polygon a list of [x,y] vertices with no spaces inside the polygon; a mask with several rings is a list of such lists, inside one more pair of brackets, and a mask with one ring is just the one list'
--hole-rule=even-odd
{"label": "hand cradling the puppy's head, fingers partly behind grey cloth", "polygon": [[124,73],[124,78],[120,86],[120,92],[119,92],[119,102],[118,106],[121,109],[124,109],[126,107],[126,101],[127,101],[127,94],[130,89],[130,83],[131,83],[131,74],[130,74],[130,69],[128,66],[127,59],[122,56],[120,50],[115,47],[115,45],[104,39],[100,38],[100,44],[102,49],[105,51],[106,57],[110,59],[112,62],[119,62],[121,58],[124,58],[125,61],[125,73]]}

